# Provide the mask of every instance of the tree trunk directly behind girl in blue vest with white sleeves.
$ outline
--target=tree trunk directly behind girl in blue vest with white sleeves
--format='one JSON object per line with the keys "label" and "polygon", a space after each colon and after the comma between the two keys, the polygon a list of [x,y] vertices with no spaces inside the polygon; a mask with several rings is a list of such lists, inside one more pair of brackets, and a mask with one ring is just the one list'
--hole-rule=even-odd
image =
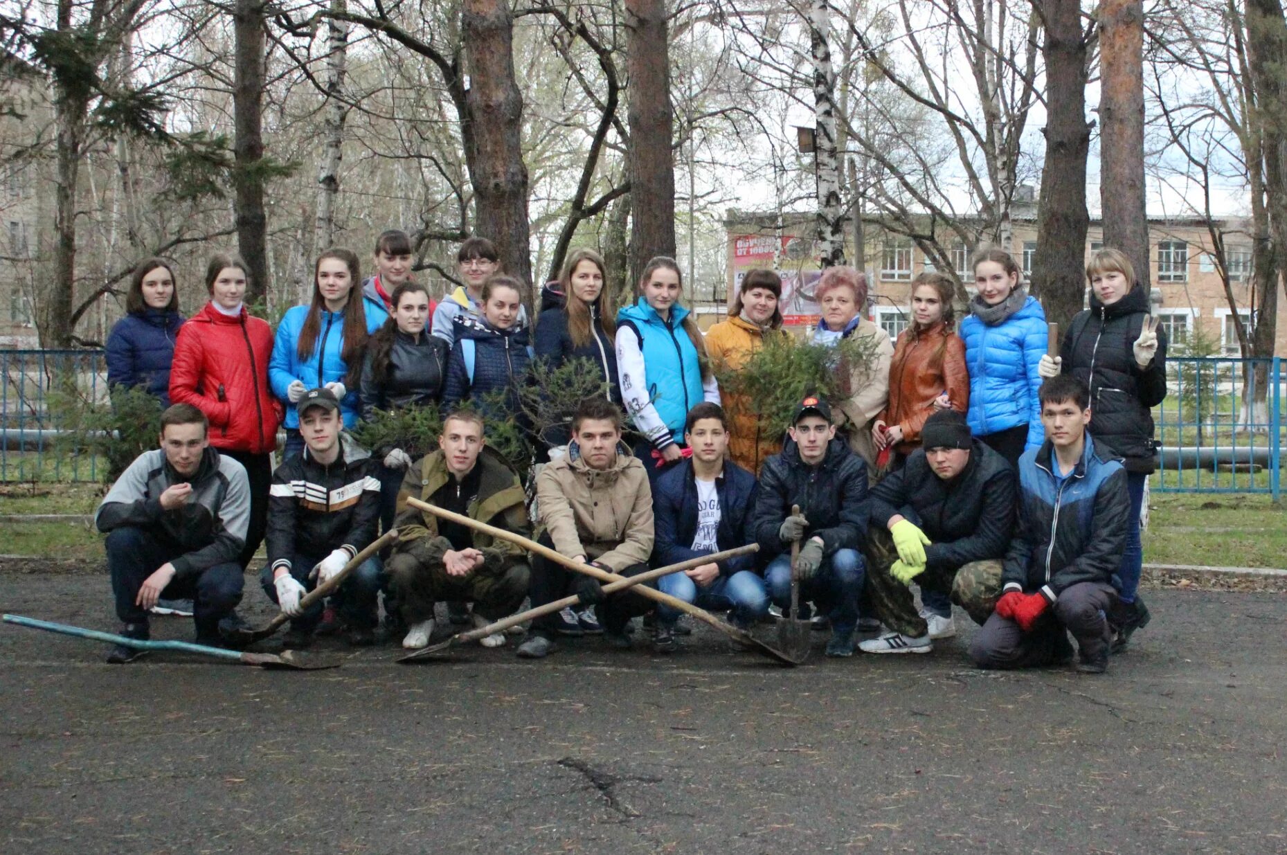
{"label": "tree trunk directly behind girl in blue vest with white sleeves", "polygon": [[674,258],[674,131],[665,1],[625,0],[625,27],[633,283],[654,255]]}

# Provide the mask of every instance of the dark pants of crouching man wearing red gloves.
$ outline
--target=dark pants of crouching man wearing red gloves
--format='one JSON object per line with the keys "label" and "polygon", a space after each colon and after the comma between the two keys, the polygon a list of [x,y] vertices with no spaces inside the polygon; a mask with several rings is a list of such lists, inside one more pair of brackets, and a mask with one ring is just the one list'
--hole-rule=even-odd
{"label": "dark pants of crouching man wearing red gloves", "polygon": [[1064,588],[1054,605],[1024,632],[1010,618],[996,612],[969,645],[969,658],[979,668],[1033,668],[1051,664],[1058,657],[1064,631],[1077,640],[1082,659],[1107,655],[1112,631],[1107,612],[1117,599],[1111,585],[1079,582]]}

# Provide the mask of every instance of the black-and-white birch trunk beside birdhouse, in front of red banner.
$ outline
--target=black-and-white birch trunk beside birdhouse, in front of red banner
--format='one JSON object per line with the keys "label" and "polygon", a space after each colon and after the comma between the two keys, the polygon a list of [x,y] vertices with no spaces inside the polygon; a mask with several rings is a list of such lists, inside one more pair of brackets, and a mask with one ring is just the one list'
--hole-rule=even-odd
{"label": "black-and-white birch trunk beside birdhouse, in front of red banner", "polygon": [[812,0],[808,40],[813,58],[813,167],[817,170],[817,251],[822,268],[844,264],[844,214],[835,146],[835,68],[828,0]]}

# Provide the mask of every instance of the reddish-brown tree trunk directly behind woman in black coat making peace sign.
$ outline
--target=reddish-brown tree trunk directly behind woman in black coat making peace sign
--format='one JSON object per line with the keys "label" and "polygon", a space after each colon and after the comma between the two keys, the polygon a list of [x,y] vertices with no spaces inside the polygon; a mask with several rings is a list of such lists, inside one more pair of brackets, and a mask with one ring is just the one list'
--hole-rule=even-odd
{"label": "reddish-brown tree trunk directly behind woman in black coat making peace sign", "polygon": [[1151,286],[1144,202],[1144,4],[1104,0],[1099,6],[1099,196],[1104,246],[1130,258],[1135,278]]}

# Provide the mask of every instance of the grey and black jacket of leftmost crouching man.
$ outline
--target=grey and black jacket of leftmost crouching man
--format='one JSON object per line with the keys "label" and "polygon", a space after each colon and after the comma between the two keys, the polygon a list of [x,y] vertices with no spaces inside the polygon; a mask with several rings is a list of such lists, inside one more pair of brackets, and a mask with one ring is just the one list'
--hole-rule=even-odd
{"label": "grey and black jacket of leftmost crouching man", "polygon": [[[172,511],[161,507],[161,493],[183,480],[192,496]],[[232,457],[206,448],[192,478],[183,478],[160,448],[139,455],[107,491],[94,524],[100,532],[133,525],[178,543],[184,554],[170,564],[179,578],[216,564],[236,561],[250,525],[250,484]]]}

